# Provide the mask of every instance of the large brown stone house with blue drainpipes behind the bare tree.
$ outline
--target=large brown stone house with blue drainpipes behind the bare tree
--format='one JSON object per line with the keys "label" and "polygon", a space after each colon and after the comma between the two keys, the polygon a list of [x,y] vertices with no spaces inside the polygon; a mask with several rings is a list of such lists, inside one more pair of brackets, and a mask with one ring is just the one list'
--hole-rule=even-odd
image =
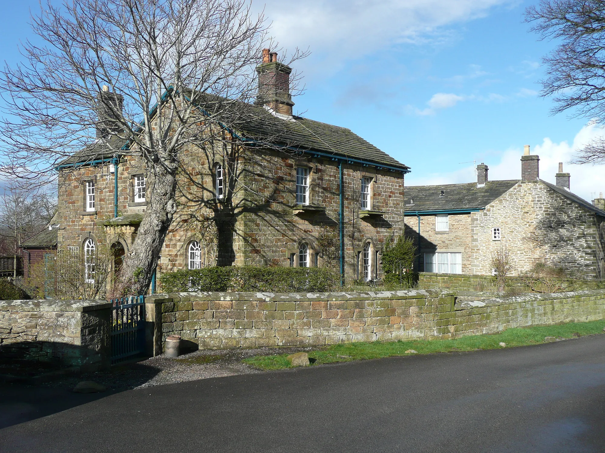
{"label": "large brown stone house with blue drainpipes behind the bare tree", "polygon": [[[293,115],[291,71],[264,51],[257,100],[246,107],[264,120],[233,134],[238,140],[278,130],[287,152],[241,140],[237,165],[220,155],[204,160],[195,149],[183,153],[160,274],[214,265],[331,264],[347,278],[381,276],[382,244],[404,231],[409,167],[349,129]],[[108,89],[101,96],[120,102]],[[101,109],[99,115],[101,124],[111,123]],[[90,257],[100,243],[110,245],[116,272],[145,213],[145,165],[93,144],[58,171],[58,248]],[[93,266],[88,274],[93,277]]]}

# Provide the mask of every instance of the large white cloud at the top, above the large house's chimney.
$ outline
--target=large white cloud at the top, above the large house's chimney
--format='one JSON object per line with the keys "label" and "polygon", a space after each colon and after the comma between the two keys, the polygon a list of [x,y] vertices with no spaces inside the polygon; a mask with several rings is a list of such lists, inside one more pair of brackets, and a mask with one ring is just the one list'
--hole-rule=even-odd
{"label": "large white cloud at the top, above the large house's chimney", "polygon": [[[266,0],[271,34],[286,48],[307,48],[312,56],[297,63],[310,72],[337,69],[348,59],[378,53],[393,44],[448,37],[445,27],[480,18],[495,5],[515,0]],[[476,68],[479,70],[478,68]]]}

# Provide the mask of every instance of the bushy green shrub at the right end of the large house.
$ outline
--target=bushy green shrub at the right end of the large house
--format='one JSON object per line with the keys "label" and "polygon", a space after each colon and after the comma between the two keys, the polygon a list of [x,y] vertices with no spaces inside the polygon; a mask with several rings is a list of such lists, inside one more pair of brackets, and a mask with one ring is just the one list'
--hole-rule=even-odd
{"label": "bushy green shrub at the right end of the large house", "polygon": [[382,270],[384,283],[387,285],[404,285],[411,288],[414,284],[412,267],[416,259],[416,246],[410,238],[401,236],[394,241],[391,236],[382,249]]}

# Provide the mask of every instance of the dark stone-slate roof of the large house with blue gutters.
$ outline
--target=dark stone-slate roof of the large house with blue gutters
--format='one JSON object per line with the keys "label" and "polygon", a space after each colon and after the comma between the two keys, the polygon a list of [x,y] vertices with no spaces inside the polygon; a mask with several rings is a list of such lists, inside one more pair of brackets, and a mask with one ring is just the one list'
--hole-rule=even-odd
{"label": "dark stone-slate roof of the large house with blue gutters", "polygon": [[[208,101],[208,108],[204,105],[203,109],[212,111],[212,106],[224,105],[221,101],[215,101],[214,99],[211,98]],[[241,106],[242,104],[238,105]],[[240,115],[241,121],[238,121],[240,126],[238,126],[237,132],[244,139],[262,142],[263,138],[268,137],[279,146],[288,146],[310,152],[315,150],[329,155],[388,165],[404,171],[410,168],[346,127],[333,126],[332,124],[297,116],[292,117],[294,121],[284,120],[270,114],[262,107],[252,104],[243,105],[243,109],[238,109],[236,106],[234,111],[238,111],[238,115]],[[122,149],[124,144],[125,142],[116,140],[112,147]],[[60,165],[109,159],[114,154],[114,151],[108,150],[102,144],[94,143],[86,149],[74,153],[73,156],[65,159]]]}

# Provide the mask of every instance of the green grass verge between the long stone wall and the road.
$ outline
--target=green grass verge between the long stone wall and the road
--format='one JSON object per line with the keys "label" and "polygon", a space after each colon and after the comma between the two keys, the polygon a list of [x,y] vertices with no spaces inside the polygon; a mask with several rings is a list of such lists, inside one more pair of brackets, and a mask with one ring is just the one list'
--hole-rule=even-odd
{"label": "green grass verge between the long stone wall and the road", "polygon": [[[532,326],[508,329],[491,335],[471,335],[451,340],[413,340],[413,341],[375,341],[371,343],[334,344],[309,353],[311,365],[350,362],[353,360],[379,359],[382,357],[407,356],[407,350],[419,354],[437,352],[463,352],[480,349],[501,349],[500,342],[506,347],[528,346],[545,342],[546,336],[572,338],[574,336],[603,333],[605,320],[589,323],[566,323],[557,326]],[[254,356],[243,362],[261,370],[281,370],[290,368],[287,354],[273,356]],[[314,360],[312,360],[314,359]]]}

